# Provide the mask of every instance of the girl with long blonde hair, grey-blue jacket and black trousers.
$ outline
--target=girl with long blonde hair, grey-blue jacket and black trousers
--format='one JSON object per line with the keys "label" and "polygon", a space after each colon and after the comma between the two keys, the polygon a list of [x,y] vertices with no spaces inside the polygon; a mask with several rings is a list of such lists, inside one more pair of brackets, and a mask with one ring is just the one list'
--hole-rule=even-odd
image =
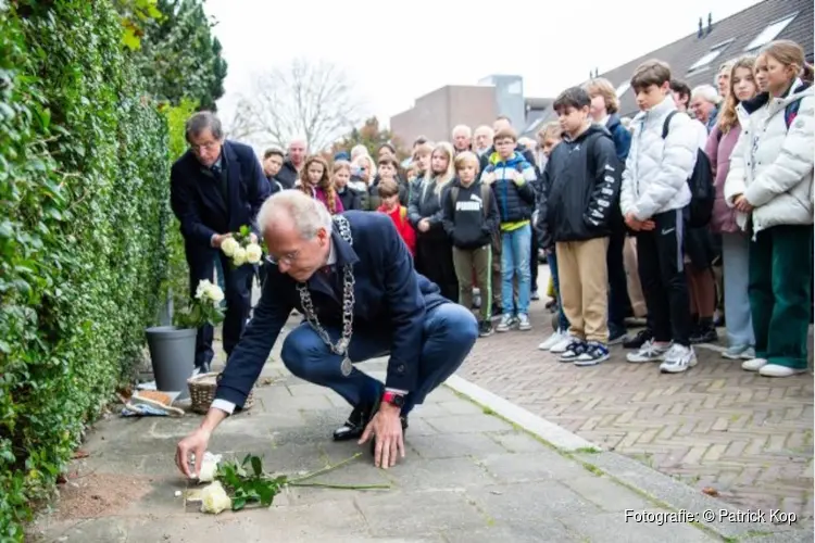
{"label": "girl with long blonde hair, grey-blue jacket and black trousers", "polygon": [[438,285],[444,298],[457,302],[453,244],[444,232],[441,210],[441,194],[455,175],[453,157],[450,143],[434,148],[424,177],[414,184],[408,219],[416,230],[416,270]]}

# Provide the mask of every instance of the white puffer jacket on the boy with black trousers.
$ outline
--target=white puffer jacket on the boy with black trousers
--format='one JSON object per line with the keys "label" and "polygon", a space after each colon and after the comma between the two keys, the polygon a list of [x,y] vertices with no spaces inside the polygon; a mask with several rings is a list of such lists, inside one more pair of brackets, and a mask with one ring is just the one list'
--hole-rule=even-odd
{"label": "white puffer jacket on the boy with black trousers", "polygon": [[667,96],[631,122],[631,149],[619,197],[623,215],[634,213],[638,220],[645,220],[690,203],[688,178],[697,164],[699,137],[691,118],[677,113],[670,119],[667,138],[662,139],[665,117],[672,111],[676,111],[676,103]]}

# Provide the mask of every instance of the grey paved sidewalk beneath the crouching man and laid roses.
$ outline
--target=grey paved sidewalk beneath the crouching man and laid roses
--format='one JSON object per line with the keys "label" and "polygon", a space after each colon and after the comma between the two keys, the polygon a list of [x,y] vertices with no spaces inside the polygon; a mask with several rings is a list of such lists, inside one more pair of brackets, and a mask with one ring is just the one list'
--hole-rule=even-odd
{"label": "grey paved sidewalk beneath the crouching man and laid roses", "polygon": [[[381,376],[385,362],[362,365]],[[559,451],[494,415],[506,413],[532,430],[557,438],[556,427],[496,401],[479,406],[442,387],[411,416],[408,457],[379,470],[367,447],[335,443],[331,431],[348,415],[333,392],[292,377],[269,362],[255,390],[256,405],[228,419],[213,437],[211,451],[264,456],[266,470],[294,473],[336,463],[358,451],[358,460],[321,482],[387,483],[388,491],[292,489],[271,509],[218,516],[185,507],[176,491],[186,481],[176,471],[177,441],[200,417],[120,418],[97,425],[76,460],[63,500],[42,516],[35,541],[108,542],[705,542],[812,541],[812,532],[772,525],[654,522],[626,519],[686,507],[701,513],[727,508],[673,479],[614,453],[581,449],[579,439]],[[453,378],[451,383],[468,383]],[[469,392],[478,394],[471,386]],[[474,392],[475,391],[475,392]],[[510,409],[507,412],[506,409]],[[519,417],[519,418],[518,418]],[[606,473],[640,482],[659,500],[620,484]],[[38,533],[35,533],[38,532]],[[766,538],[776,533],[775,536]],[[718,533],[718,535],[717,535]],[[757,539],[756,539],[757,538]]]}

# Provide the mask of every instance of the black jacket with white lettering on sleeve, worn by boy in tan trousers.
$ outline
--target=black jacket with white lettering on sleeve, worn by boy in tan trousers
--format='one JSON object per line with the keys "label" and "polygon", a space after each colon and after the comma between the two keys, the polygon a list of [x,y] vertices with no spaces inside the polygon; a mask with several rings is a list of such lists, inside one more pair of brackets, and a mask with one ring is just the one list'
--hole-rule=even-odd
{"label": "black jacket with white lettering on sleeve, worn by boy in tan trousers", "polygon": [[592,124],[557,144],[543,169],[538,214],[541,247],[603,238],[619,207],[623,167],[609,130]]}

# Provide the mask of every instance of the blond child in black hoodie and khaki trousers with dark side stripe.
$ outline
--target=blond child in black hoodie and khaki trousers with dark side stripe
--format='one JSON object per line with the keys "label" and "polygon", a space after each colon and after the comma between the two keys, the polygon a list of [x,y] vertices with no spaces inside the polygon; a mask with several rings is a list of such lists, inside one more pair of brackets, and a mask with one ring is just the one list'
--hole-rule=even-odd
{"label": "blond child in black hoodie and khaki trousers with dark side stripe", "polygon": [[492,333],[492,232],[498,229],[498,205],[489,185],[476,180],[478,156],[455,156],[455,179],[441,197],[442,226],[453,242],[453,266],[459,279],[459,303],[473,306],[473,273],[481,293],[481,338]]}

